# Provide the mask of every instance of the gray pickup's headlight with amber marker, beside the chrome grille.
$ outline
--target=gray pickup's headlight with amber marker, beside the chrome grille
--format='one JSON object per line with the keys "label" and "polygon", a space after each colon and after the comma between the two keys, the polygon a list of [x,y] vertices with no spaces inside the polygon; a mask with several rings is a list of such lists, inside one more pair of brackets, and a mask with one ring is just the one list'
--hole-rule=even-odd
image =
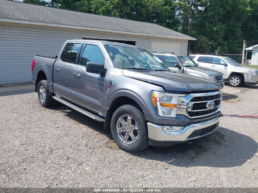
{"label": "gray pickup's headlight with amber marker, beside the chrome grille", "polygon": [[153,91],[152,102],[159,116],[176,117],[179,95]]}

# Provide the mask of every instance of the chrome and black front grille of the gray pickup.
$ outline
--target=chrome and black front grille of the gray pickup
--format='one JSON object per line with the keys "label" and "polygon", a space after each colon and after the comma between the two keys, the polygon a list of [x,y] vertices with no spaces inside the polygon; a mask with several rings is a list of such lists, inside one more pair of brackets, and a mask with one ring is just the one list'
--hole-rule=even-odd
{"label": "chrome and black front grille of the gray pickup", "polygon": [[[221,100],[220,91],[182,96],[179,97],[177,114],[189,118],[209,116],[220,110]],[[214,102],[214,106],[210,108],[208,103],[213,103],[211,101]]]}

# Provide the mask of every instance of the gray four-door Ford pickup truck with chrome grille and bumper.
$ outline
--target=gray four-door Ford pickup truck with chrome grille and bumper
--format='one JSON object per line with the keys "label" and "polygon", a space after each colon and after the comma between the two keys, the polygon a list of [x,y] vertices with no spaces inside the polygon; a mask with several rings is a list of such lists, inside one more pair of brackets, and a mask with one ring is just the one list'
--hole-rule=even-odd
{"label": "gray four-door Ford pickup truck with chrome grille and bumper", "polygon": [[137,46],[69,40],[56,57],[34,56],[32,78],[42,106],[58,101],[104,123],[128,152],[191,141],[219,125],[219,84],[173,72]]}

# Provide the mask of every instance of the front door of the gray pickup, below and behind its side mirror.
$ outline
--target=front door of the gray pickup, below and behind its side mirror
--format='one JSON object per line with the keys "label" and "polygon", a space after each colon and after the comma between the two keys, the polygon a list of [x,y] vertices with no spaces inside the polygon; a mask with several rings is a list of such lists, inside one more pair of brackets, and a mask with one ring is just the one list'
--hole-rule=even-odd
{"label": "front door of the gray pickup, below and behind its side mirror", "polygon": [[86,72],[87,62],[101,63],[107,68],[102,48],[94,43],[84,44],[79,58],[73,69],[73,100],[93,112],[102,113],[106,77]]}

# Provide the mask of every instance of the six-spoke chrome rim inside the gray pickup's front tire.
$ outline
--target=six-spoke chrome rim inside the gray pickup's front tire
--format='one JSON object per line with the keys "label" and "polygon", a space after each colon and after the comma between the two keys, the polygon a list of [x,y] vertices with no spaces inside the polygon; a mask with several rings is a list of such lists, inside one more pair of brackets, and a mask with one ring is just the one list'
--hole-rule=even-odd
{"label": "six-spoke chrome rim inside the gray pickup's front tire", "polygon": [[119,117],[116,124],[118,137],[126,144],[133,144],[138,139],[136,120],[128,114]]}

